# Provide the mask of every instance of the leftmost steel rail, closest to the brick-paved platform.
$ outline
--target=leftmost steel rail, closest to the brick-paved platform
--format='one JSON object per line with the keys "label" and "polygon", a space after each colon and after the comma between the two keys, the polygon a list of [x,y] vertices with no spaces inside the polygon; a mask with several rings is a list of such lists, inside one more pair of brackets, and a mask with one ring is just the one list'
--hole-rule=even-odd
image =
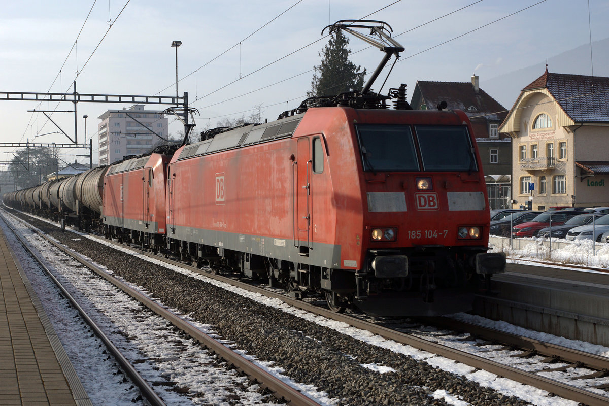
{"label": "leftmost steel rail, closest to the brick-paved platform", "polygon": [[[15,217],[15,216],[13,216],[13,217]],[[18,217],[15,217],[15,218],[17,220],[19,220],[19,222],[24,223],[23,220],[19,219]],[[150,385],[146,382],[146,380],[144,380],[144,378],[138,373],[138,371],[136,371],[136,369],[133,368],[133,365],[125,358],[124,355],[122,355],[122,352],[118,348],[116,348],[116,346],[114,346],[114,344],[112,343],[110,338],[108,338],[107,335],[104,334],[104,332],[99,328],[99,326],[97,326],[97,324],[93,321],[93,319],[91,319],[89,317],[89,315],[85,312],[85,310],[82,307],[80,307],[80,305],[77,303],[76,299],[74,299],[72,297],[72,295],[70,295],[68,290],[66,290],[65,287],[63,287],[62,282],[58,281],[58,279],[55,278],[55,276],[52,274],[51,270],[49,270],[49,268],[46,267],[46,265],[44,265],[44,262],[40,258],[40,253],[35,253],[27,245],[27,243],[21,238],[21,236],[19,236],[19,234],[17,233],[15,228],[13,228],[13,226],[10,225],[9,222],[5,221],[5,224],[9,227],[10,231],[12,231],[12,233],[15,235],[16,239],[19,240],[21,245],[23,245],[23,248],[25,248],[27,250],[27,252],[30,253],[30,255],[33,257],[33,259],[35,259],[36,262],[38,262],[38,264],[40,264],[40,266],[43,268],[43,270],[46,272],[46,274],[49,276],[49,278],[51,278],[52,281],[54,282],[54,284],[57,285],[57,287],[62,291],[63,296],[65,296],[65,298],[68,299],[68,301],[72,305],[72,307],[74,307],[74,309],[76,309],[80,313],[80,317],[82,317],[82,319],[85,321],[85,323],[88,324],[91,327],[91,329],[93,330],[93,332],[97,335],[97,337],[99,337],[100,340],[102,340],[104,342],[104,345],[106,346],[108,351],[110,351],[110,354],[113,355],[113,357],[118,361],[119,365],[121,365],[121,368],[124,369],[125,373],[127,373],[127,375],[138,386],[141,393],[144,395],[144,397],[146,397],[146,400],[148,402],[150,402],[150,405],[166,406],[166,403],[163,401],[163,399],[161,399],[158,396],[158,394],[152,389],[152,387],[150,387]],[[28,225],[27,223],[25,223],[25,224],[30,229],[32,229],[30,225]],[[35,231],[35,230],[33,230],[33,231]],[[40,234],[40,233],[38,233],[38,234]],[[44,237],[44,238],[46,240],[49,240],[46,237]],[[52,240],[49,240],[49,241],[52,242]]]}

